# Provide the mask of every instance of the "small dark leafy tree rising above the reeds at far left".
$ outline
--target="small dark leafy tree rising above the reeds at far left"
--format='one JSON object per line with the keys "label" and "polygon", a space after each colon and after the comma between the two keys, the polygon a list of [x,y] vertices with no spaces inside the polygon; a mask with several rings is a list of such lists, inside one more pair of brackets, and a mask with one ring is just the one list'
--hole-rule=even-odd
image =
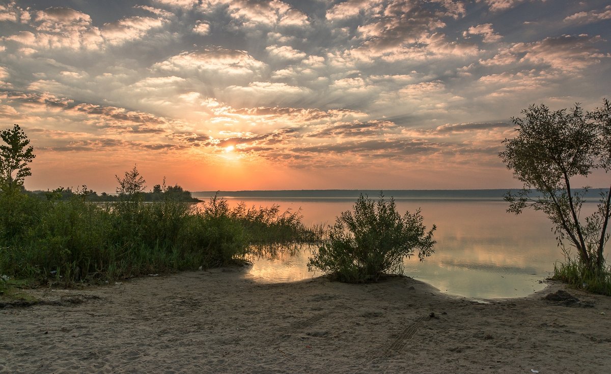
{"label": "small dark leafy tree rising above the reeds at far left", "polygon": [[27,166],[34,157],[34,148],[28,146],[30,141],[25,132],[14,124],[12,129],[5,129],[0,137],[6,143],[0,145],[0,190],[11,195],[23,187],[26,176],[32,171]]}

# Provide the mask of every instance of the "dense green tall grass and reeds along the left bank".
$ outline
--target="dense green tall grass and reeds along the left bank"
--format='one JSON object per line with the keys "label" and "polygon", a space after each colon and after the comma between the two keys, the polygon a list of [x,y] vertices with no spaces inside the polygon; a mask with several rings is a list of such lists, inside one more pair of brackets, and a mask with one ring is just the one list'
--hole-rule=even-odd
{"label": "dense green tall grass and reeds along the left bank", "polygon": [[215,267],[241,261],[252,244],[316,240],[278,207],[231,209],[158,203],[97,204],[0,194],[0,275],[38,281],[94,281]]}

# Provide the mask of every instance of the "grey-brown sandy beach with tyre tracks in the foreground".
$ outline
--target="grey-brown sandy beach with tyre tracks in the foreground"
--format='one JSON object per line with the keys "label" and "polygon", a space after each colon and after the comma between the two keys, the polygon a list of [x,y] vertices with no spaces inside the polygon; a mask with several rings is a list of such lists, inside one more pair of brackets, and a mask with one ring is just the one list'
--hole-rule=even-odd
{"label": "grey-brown sandy beach with tyre tracks in the foreground", "polygon": [[[47,304],[0,309],[0,372],[611,372],[611,298],[563,287],[478,303],[411,278],[266,284],[225,268],[39,289]],[[563,289],[580,301],[543,298]]]}

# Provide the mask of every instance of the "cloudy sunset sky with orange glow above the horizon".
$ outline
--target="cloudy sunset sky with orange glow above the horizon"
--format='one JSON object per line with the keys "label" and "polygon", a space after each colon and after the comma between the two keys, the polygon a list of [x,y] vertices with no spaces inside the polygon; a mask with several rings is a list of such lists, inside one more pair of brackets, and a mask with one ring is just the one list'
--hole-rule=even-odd
{"label": "cloudy sunset sky with orange glow above the horizon", "polygon": [[0,0],[0,129],[31,190],[519,187],[511,117],[601,106],[609,40],[596,0]]}

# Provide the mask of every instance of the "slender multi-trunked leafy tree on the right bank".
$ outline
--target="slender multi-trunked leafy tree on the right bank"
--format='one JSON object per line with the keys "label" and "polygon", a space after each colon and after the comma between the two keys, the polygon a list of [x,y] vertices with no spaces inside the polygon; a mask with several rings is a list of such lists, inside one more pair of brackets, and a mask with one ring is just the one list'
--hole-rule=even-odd
{"label": "slender multi-trunked leafy tree on the right bank", "polygon": [[[520,214],[526,207],[543,211],[555,226],[558,245],[566,254],[568,240],[579,261],[590,271],[604,269],[604,246],[609,239],[611,186],[601,190],[596,211],[580,220],[588,188],[575,190],[574,177],[595,170],[611,170],[611,104],[584,113],[579,104],[552,111],[541,104],[522,110],[524,118],[511,118],[517,136],[505,139],[499,156],[522,182],[517,193],[508,192],[508,212]],[[535,192],[533,192],[535,190]]]}

